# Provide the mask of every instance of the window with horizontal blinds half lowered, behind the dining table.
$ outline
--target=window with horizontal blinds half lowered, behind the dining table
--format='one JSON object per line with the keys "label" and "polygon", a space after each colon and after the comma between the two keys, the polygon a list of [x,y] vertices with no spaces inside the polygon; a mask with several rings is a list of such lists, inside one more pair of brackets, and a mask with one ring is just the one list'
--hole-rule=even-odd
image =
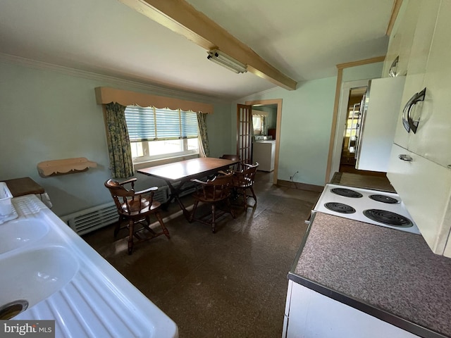
{"label": "window with horizontal blinds half lowered, behind the dining table", "polygon": [[169,108],[125,108],[133,163],[199,154],[197,114]]}

